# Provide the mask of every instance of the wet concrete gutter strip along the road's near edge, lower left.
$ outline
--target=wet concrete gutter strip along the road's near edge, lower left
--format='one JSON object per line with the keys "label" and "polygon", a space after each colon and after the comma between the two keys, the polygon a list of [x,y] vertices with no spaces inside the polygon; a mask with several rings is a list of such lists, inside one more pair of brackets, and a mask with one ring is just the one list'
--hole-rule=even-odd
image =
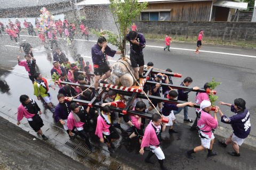
{"label": "wet concrete gutter strip along the road's near edge, lower left", "polygon": [[[13,123],[14,125],[16,125],[16,115],[17,114],[17,108],[13,107],[12,105],[9,104],[5,104],[3,102],[0,102],[0,116],[5,118],[5,120],[9,121],[10,123]],[[49,137],[49,140],[46,141],[47,145],[51,145],[52,147],[54,147],[55,149],[59,150],[60,152],[62,152],[63,154],[69,156],[70,158],[74,159],[75,161],[84,164],[84,160],[81,159],[81,157],[79,157],[75,150],[70,149],[69,147],[67,147],[65,145],[66,141],[70,141],[68,138],[68,135],[65,133],[65,130],[62,128],[57,128],[58,132],[53,132],[50,133],[52,128],[56,128],[56,125],[53,125],[53,123],[49,123],[47,120],[43,120],[44,121],[44,126],[42,128],[42,130],[44,131],[44,134]],[[20,128],[26,132],[28,132],[29,134],[33,135],[35,138],[37,137],[36,132],[34,132],[30,126],[28,125],[28,122],[26,120],[26,118],[23,118],[23,120],[21,120],[21,125]],[[49,130],[49,131],[48,131]],[[63,137],[60,137],[58,134],[63,133]],[[63,141],[60,141],[59,139],[62,138]],[[39,138],[39,140],[41,140]],[[110,153],[102,148],[102,145],[100,143],[92,143],[92,145],[98,149],[102,149],[104,150],[104,154],[102,152],[96,152],[96,153],[92,153],[90,152],[90,154],[86,155],[86,157],[84,157],[85,159],[89,159],[90,162],[92,163],[97,163],[98,165],[101,166],[101,168],[109,168],[109,169],[133,169],[132,167],[130,167],[129,165],[126,165],[125,163],[116,160],[115,158],[108,156]],[[65,148],[65,149],[64,149]],[[83,157],[83,156],[82,156]],[[92,166],[92,165],[90,165]]]}

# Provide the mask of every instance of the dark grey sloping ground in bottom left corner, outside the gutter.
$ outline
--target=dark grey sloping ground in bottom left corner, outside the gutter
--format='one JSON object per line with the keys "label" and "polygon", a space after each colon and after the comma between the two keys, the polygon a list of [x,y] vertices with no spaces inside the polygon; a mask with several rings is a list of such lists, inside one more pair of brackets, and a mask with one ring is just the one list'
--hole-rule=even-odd
{"label": "dark grey sloping ground in bottom left corner, outside the gutter", "polygon": [[0,169],[89,169],[1,116],[0,124]]}

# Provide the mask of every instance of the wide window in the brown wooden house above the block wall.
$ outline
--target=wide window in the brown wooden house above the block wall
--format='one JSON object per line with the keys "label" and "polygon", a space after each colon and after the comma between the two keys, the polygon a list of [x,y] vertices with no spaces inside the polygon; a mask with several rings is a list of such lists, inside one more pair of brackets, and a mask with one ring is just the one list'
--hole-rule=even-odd
{"label": "wide window in the brown wooden house above the block wall", "polygon": [[141,21],[170,21],[169,11],[141,12]]}

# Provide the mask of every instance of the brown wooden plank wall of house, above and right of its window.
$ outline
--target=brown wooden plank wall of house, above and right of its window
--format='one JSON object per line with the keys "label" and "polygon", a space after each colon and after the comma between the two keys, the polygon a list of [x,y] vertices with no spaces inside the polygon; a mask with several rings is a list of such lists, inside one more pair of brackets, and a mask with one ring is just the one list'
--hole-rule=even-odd
{"label": "brown wooden plank wall of house, above and right of its window", "polygon": [[150,3],[147,10],[170,9],[171,21],[209,21],[212,1]]}

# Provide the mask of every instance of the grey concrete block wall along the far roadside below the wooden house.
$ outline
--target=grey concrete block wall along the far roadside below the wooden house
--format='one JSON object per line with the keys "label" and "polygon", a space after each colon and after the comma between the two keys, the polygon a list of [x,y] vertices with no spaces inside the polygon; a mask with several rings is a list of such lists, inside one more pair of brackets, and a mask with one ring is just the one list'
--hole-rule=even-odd
{"label": "grey concrete block wall along the far roadside below the wooden house", "polygon": [[189,38],[204,30],[208,39],[256,42],[256,22],[137,21],[135,24],[139,32],[150,35],[169,33],[172,37]]}

